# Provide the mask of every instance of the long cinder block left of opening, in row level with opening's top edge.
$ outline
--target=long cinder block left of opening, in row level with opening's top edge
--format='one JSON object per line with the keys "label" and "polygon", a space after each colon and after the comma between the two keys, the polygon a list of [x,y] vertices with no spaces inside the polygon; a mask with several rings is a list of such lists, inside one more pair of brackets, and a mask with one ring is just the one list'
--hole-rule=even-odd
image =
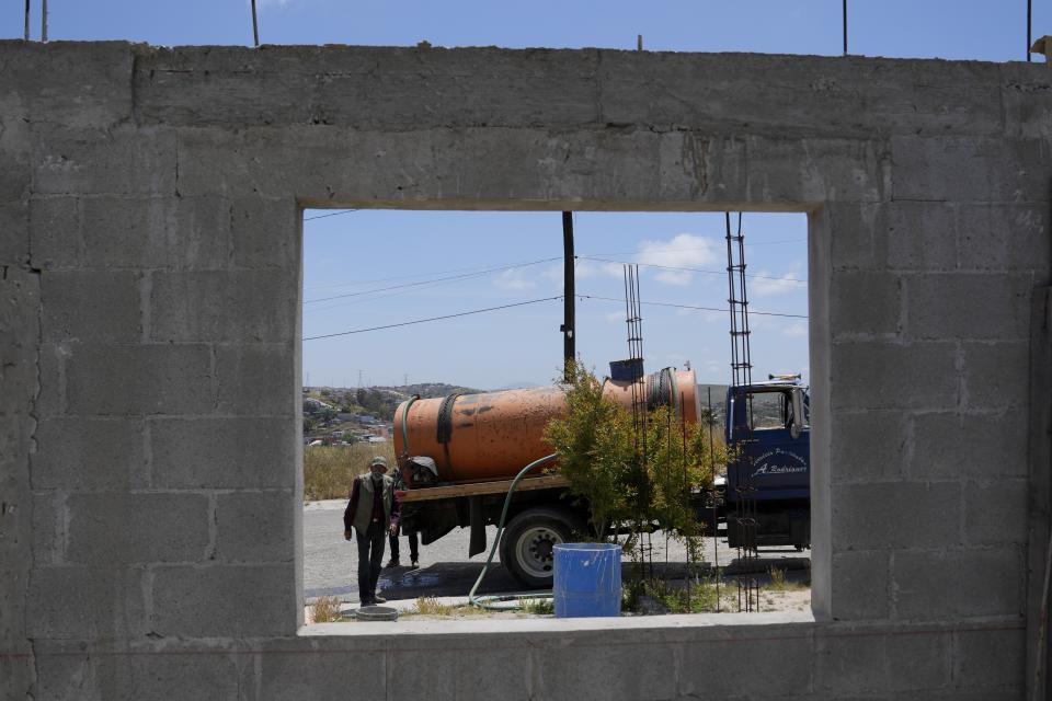
{"label": "long cinder block left of opening, in row level with opening's top edge", "polygon": [[203,197],[91,197],[85,262],[96,267],[216,269],[230,263],[230,205]]}

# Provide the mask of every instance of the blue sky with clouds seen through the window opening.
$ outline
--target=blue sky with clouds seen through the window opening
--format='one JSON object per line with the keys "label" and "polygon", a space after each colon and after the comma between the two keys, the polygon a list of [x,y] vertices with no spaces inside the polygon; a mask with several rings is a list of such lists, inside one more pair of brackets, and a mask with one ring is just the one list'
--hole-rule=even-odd
{"label": "blue sky with clouds seen through the window opening", "polygon": [[[304,335],[311,337],[562,294],[559,212],[309,210]],[[734,219],[736,227],[736,219]],[[578,352],[597,372],[628,355],[624,262],[640,267],[649,371],[730,372],[721,214],[576,212]],[[753,355],[759,374],[805,371],[807,217],[746,214]],[[690,268],[690,269],[683,269]],[[698,272],[706,271],[706,272]],[[375,291],[374,291],[375,290]],[[610,299],[597,299],[610,298]],[[317,301],[316,301],[317,300]],[[656,303],[655,303],[656,302]],[[665,304],[678,304],[670,307]],[[690,309],[708,307],[710,310]],[[562,358],[561,300],[304,343],[315,384],[547,383]],[[305,376],[306,377],[306,376]]]}

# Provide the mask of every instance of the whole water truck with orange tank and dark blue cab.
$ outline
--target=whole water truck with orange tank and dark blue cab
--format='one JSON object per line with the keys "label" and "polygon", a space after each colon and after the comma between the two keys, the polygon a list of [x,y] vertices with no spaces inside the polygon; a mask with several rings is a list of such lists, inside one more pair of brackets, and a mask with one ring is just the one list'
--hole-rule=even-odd
{"label": "whole water truck with orange tank and dark blue cab", "polygon": [[[603,391],[606,397],[630,409],[633,383],[640,383],[636,392],[642,390],[648,409],[672,406],[684,423],[698,422],[701,407],[693,370],[665,368],[638,380],[608,378]],[[736,389],[742,391],[728,397],[729,405],[736,402],[728,416],[746,423],[737,429],[728,429],[728,435],[735,440],[741,439],[741,432],[753,416],[747,410],[754,397],[750,388]],[[773,392],[788,392],[787,395],[791,397],[800,390],[796,386],[778,389],[770,384],[756,391],[771,397]],[[790,406],[796,405],[792,402],[799,402],[789,401]],[[443,399],[411,399],[400,404],[395,412],[393,433],[395,453],[407,486],[399,495],[404,527],[419,531],[424,545],[454,528],[470,528],[469,556],[483,552],[485,527],[500,519],[512,479],[524,466],[551,452],[551,447],[544,440],[545,427],[550,420],[564,416],[565,411],[564,394],[558,387],[450,394]],[[803,413],[798,415],[802,417]],[[752,435],[759,438],[750,439],[750,450],[755,452],[766,435],[775,438],[774,433],[764,434],[764,430],[763,427],[752,430]],[[797,436],[807,444],[805,429],[798,430]],[[699,516],[711,520],[713,528],[717,519],[728,519],[729,533],[733,520],[734,542],[758,538],[771,544],[809,545],[810,542],[802,542],[800,538],[798,543],[781,542],[786,537],[756,528],[753,512],[748,512],[747,517],[737,514],[743,503],[740,497],[745,495],[737,486],[750,480],[754,486],[758,485],[754,490],[756,494],[771,479],[781,489],[786,474],[791,475],[794,483],[802,479],[807,484],[809,469],[804,468],[802,473],[782,472],[787,468],[781,467],[776,457],[779,460],[782,457],[784,444],[777,447],[778,452],[755,452],[767,461],[764,464],[768,464],[770,476],[762,471],[753,479],[752,473],[742,467],[747,462],[745,460],[729,464],[727,482],[712,494],[698,495]],[[807,456],[807,451],[803,455]],[[564,498],[567,489],[568,482],[558,470],[527,476],[516,487],[501,538],[500,558],[526,586],[550,587],[552,547],[569,542],[575,532],[587,530],[587,505]],[[714,509],[709,507],[711,504],[717,505]],[[777,505],[778,499],[767,499],[764,505],[764,524],[770,528],[780,522]],[[805,520],[810,524],[810,516]],[[810,533],[805,540],[810,540]]]}

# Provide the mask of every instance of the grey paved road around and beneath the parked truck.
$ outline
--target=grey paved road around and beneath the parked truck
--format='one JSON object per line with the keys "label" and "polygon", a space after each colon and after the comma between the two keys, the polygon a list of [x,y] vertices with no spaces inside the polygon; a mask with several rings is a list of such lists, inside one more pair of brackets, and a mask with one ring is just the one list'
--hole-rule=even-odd
{"label": "grey paved road around and beneath the parked truck", "polygon": [[[343,601],[358,600],[357,545],[343,539],[343,508],[345,501],[315,502],[304,507],[304,589],[308,599],[318,596],[338,596]],[[420,567],[409,566],[385,570],[379,589],[388,599],[415,599],[421,596],[467,596],[474,584],[487,552],[468,558],[467,528],[455,529],[430,545],[420,547]],[[487,528],[487,544],[492,545],[496,527]],[[717,555],[720,566],[730,564],[735,551],[718,540]],[[651,537],[652,559],[658,568],[667,566],[673,572],[686,568],[686,551],[683,545],[664,533]],[[409,564],[409,542],[401,540],[402,562]],[[385,553],[387,562],[389,553]],[[811,552],[775,550],[761,553],[762,567],[784,566],[798,568],[805,565]],[[712,561],[712,539],[705,542],[705,560]],[[499,556],[494,556],[494,563]],[[667,562],[667,565],[665,564]],[[485,575],[479,591],[498,594],[518,591],[519,585],[503,566],[496,564]]]}

